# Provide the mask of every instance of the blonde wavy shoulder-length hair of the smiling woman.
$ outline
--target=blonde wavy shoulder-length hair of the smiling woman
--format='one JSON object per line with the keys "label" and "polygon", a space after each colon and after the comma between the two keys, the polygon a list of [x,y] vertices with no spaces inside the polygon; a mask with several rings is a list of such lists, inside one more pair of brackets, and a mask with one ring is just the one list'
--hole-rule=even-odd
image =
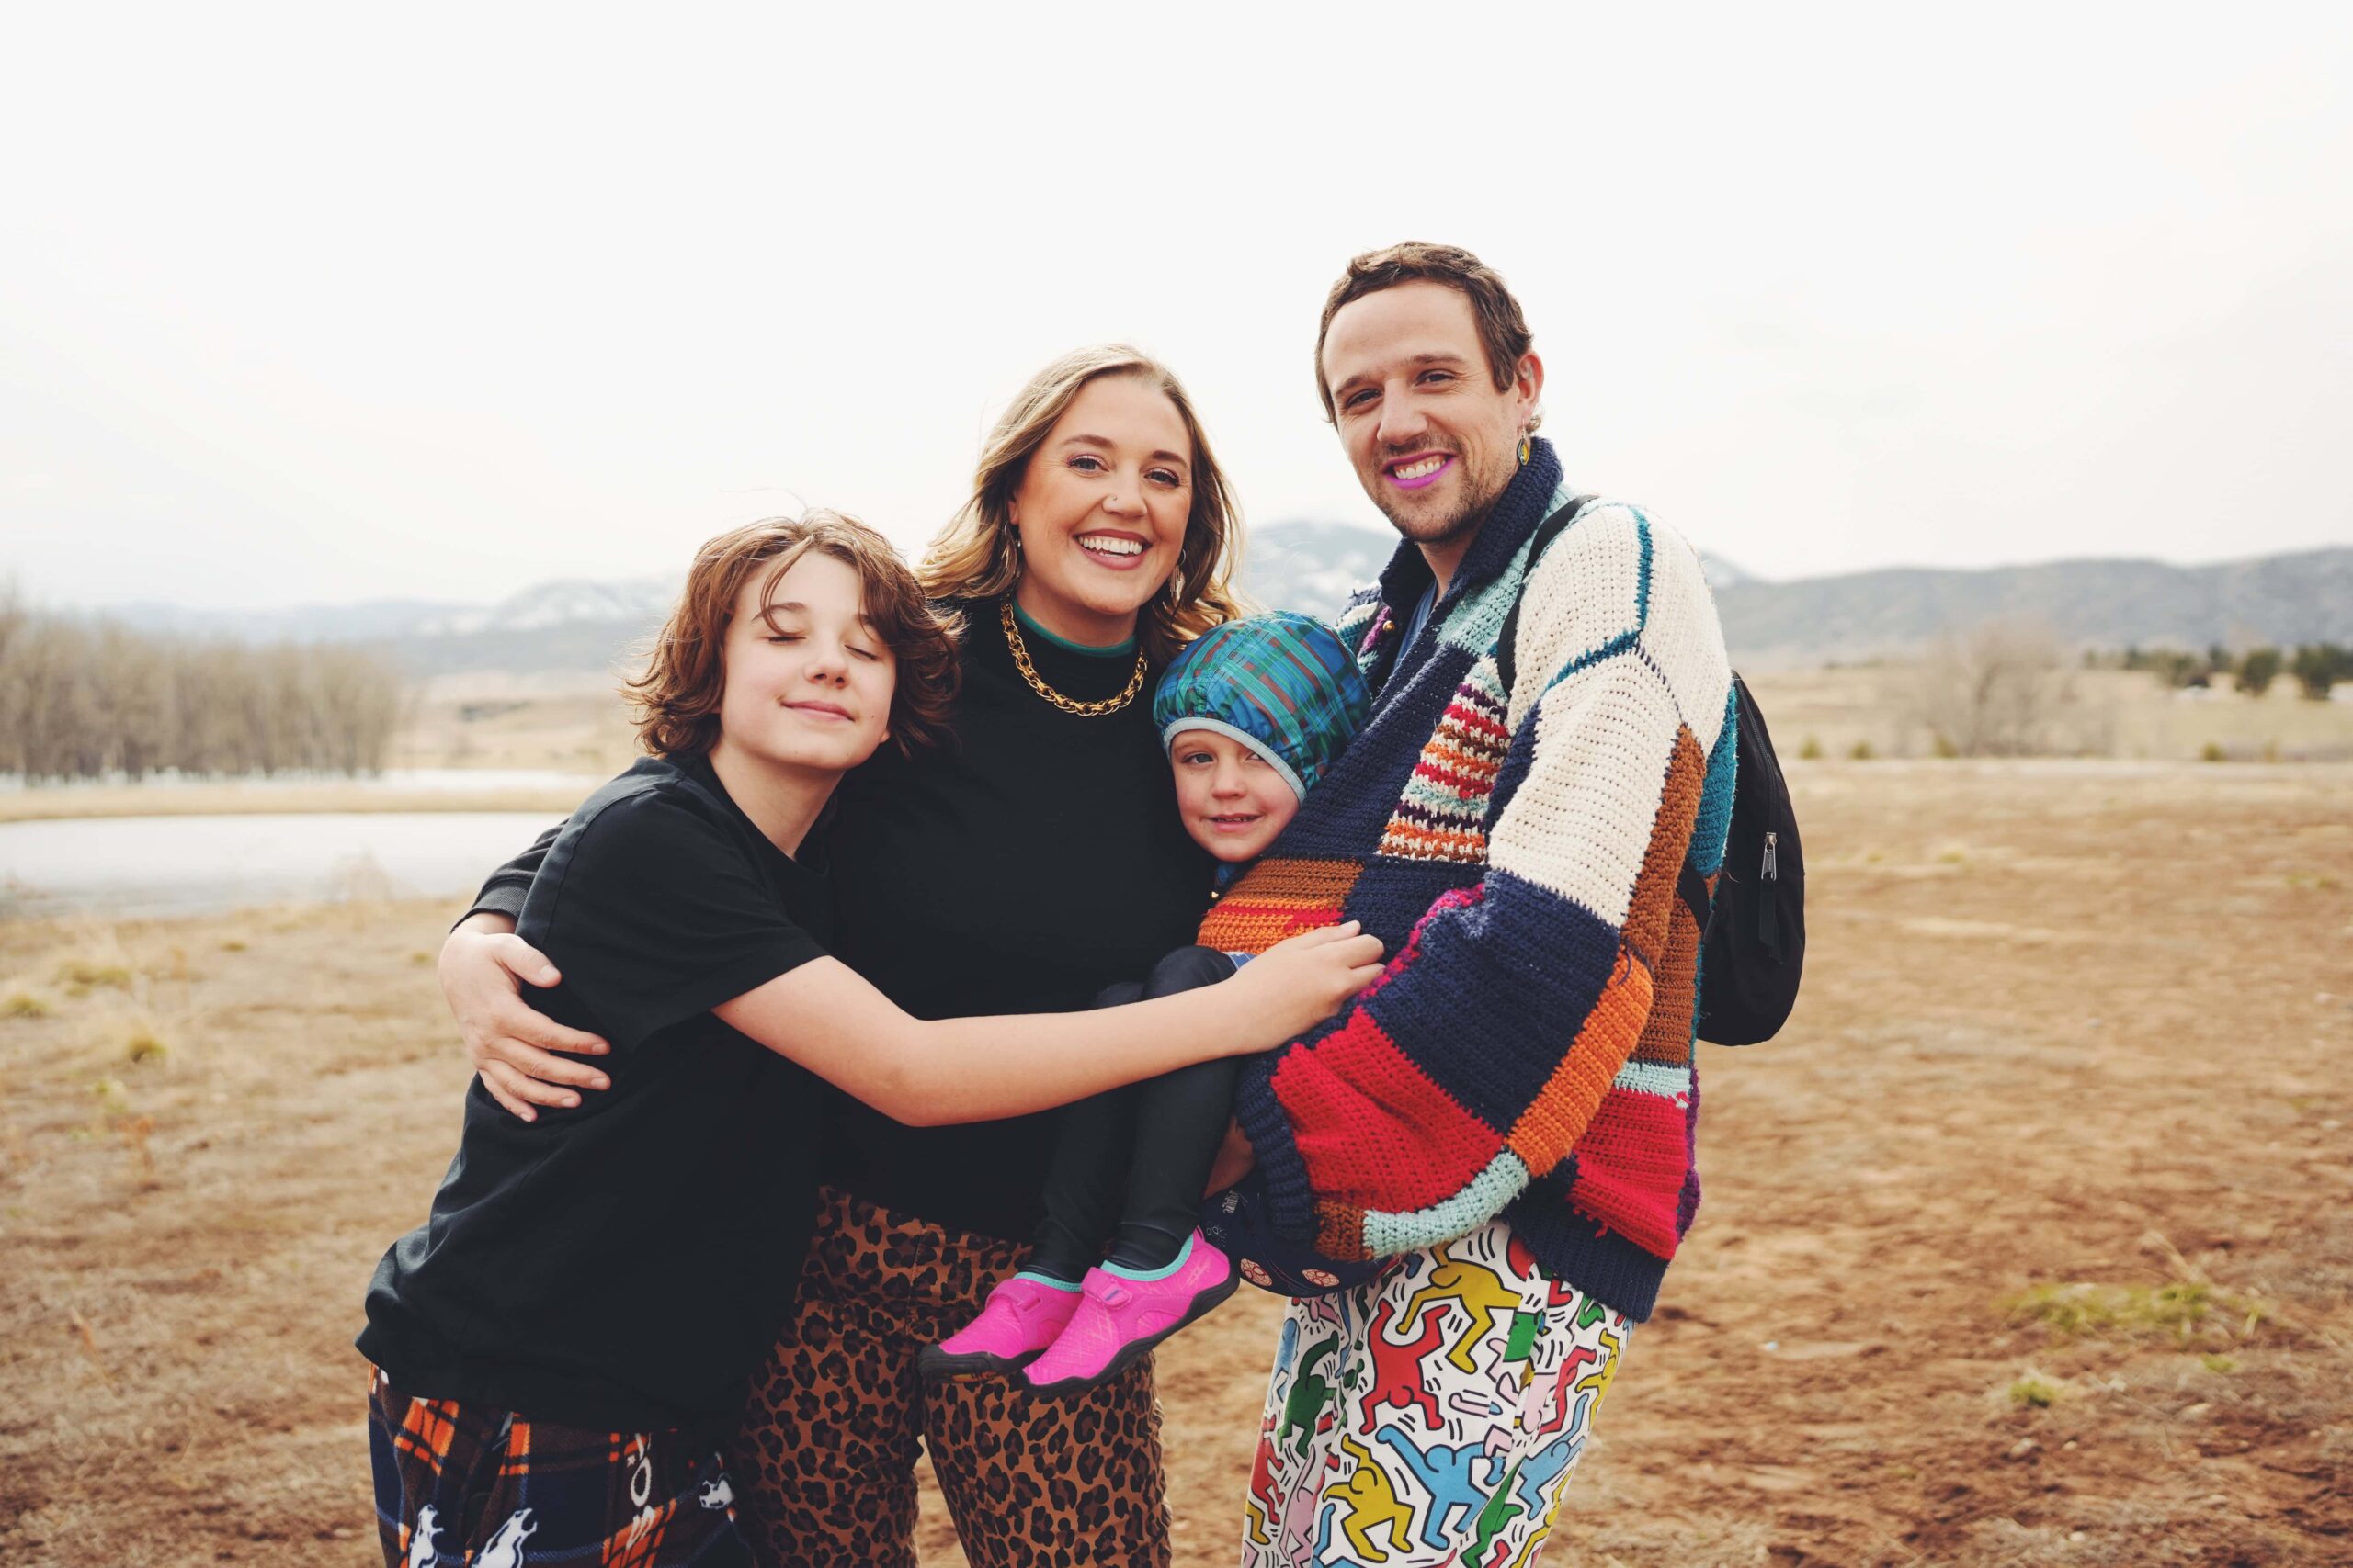
{"label": "blonde wavy shoulder-length hair of the smiling woman", "polygon": [[1209,454],[1193,400],[1176,374],[1127,343],[1078,348],[1031,376],[1005,418],[981,447],[972,475],[972,498],[932,538],[915,567],[915,581],[934,599],[991,599],[1009,592],[1021,578],[1021,555],[1014,550],[1012,498],[1021,489],[1028,461],[1045,444],[1054,421],[1064,416],[1078,390],[1099,376],[1136,376],[1176,407],[1186,440],[1193,442],[1193,510],[1186,517],[1176,571],[1136,614],[1136,637],[1144,656],[1158,668],[1212,625],[1242,614],[1242,597],[1231,576],[1242,557],[1242,512],[1233,487]]}

